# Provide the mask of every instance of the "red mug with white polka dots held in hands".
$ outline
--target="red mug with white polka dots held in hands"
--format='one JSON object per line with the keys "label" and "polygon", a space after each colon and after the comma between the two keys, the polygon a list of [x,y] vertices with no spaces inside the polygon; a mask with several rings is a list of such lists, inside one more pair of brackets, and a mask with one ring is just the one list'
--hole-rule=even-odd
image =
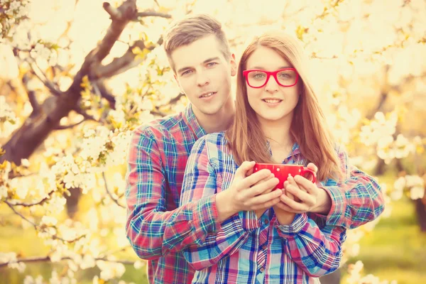
{"label": "red mug with white polka dots held in hands", "polygon": [[278,178],[280,182],[278,182],[278,185],[275,186],[274,190],[278,188],[284,188],[284,182],[287,180],[288,175],[292,175],[295,177],[296,175],[302,175],[302,177],[305,177],[305,175],[310,174],[312,175],[312,183],[315,183],[317,181],[317,174],[309,169],[304,167],[303,165],[285,165],[285,164],[269,164],[269,163],[256,163],[253,167],[253,173],[258,172],[259,170],[268,169],[271,170],[271,173],[275,175],[275,178]]}

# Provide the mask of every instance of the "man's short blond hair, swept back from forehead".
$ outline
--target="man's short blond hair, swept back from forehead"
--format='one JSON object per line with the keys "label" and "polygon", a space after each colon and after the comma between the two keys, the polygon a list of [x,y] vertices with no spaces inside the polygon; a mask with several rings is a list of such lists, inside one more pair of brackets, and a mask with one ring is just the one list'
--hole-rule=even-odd
{"label": "man's short blond hair, swept back from forehead", "polygon": [[167,53],[173,70],[175,70],[175,65],[171,58],[173,50],[183,45],[190,45],[195,40],[199,40],[207,35],[216,35],[224,57],[226,60],[231,58],[229,43],[222,30],[222,24],[207,14],[190,15],[173,23],[164,36],[165,53]]}

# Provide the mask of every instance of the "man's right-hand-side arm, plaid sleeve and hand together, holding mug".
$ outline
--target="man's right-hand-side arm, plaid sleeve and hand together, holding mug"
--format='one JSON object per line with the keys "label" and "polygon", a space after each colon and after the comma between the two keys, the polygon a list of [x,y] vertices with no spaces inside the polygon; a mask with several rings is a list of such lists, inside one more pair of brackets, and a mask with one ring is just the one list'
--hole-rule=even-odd
{"label": "man's right-hand-side arm, plaid sleeve and hand together, holding mug", "polygon": [[[349,164],[345,151],[337,151],[340,159],[342,181],[327,180],[318,186],[296,175],[285,182],[285,190],[300,202],[281,195],[278,207],[297,214],[312,212],[326,219],[327,225],[354,229],[376,219],[384,209],[384,198],[377,181]],[[307,168],[317,171],[313,163]],[[289,182],[291,181],[291,182]],[[293,183],[293,184],[292,184]],[[303,189],[303,190],[300,190]]]}

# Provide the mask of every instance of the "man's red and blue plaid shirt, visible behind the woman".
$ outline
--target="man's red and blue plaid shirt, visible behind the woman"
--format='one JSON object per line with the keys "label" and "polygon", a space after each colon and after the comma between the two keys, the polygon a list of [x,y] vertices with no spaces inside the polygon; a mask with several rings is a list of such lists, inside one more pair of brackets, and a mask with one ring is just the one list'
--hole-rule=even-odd
{"label": "man's red and blue plaid shirt, visible behind the woman", "polygon": [[[137,255],[148,260],[150,283],[190,283],[195,270],[179,251],[187,244],[204,241],[207,234],[220,228],[214,195],[178,208],[187,158],[195,141],[204,135],[191,105],[180,114],[152,121],[133,132],[126,174],[126,235]],[[380,202],[376,202],[376,187],[368,188],[373,201],[363,193],[366,190],[362,185],[347,195],[338,187],[333,190],[327,222],[359,226],[372,221],[381,212]],[[364,212],[357,209],[361,195],[368,197],[366,204],[361,203]],[[242,217],[230,221],[234,226],[253,226],[251,219]]]}

